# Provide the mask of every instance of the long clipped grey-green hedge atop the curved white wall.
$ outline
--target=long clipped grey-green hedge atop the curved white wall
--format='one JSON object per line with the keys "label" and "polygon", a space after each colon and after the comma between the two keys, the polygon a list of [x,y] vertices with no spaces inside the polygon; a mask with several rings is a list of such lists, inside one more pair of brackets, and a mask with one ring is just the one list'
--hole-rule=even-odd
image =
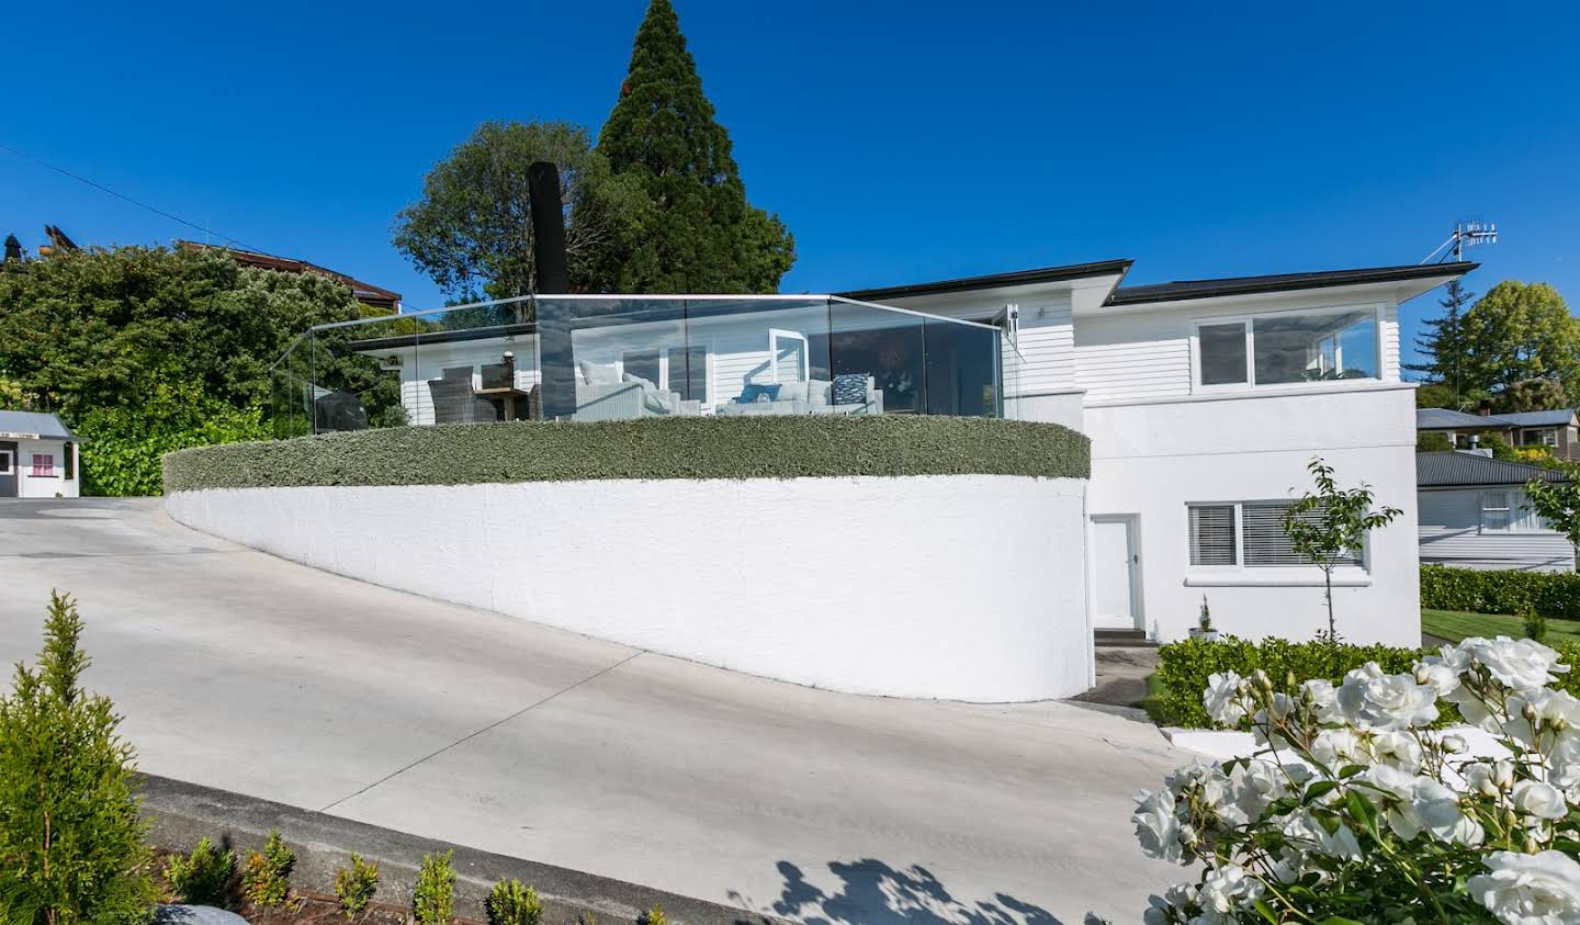
{"label": "long clipped grey-green hedge atop the curved white wall", "polygon": [[581,479],[1090,474],[1066,427],[983,417],[649,417],[392,427],[164,457],[164,490]]}

